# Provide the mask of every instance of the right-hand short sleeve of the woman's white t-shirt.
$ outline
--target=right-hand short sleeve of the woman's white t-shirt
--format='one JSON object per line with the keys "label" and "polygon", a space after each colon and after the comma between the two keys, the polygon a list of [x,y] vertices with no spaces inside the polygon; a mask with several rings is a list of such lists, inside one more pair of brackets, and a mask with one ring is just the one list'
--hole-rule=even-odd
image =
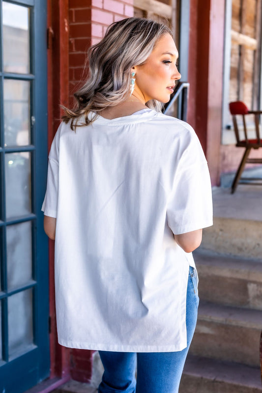
{"label": "right-hand short sleeve of the woman's white t-shirt", "polygon": [[178,160],[167,207],[168,225],[175,235],[213,225],[207,162],[197,135],[188,127],[189,138]]}

